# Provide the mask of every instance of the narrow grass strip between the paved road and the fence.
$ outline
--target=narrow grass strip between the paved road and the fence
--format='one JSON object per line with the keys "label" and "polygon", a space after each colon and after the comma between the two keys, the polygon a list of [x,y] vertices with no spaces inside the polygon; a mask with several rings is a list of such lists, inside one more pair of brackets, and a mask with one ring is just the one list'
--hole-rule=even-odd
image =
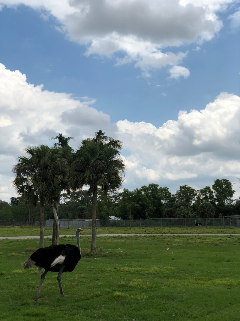
{"label": "narrow grass strip between the paved road and the fence", "polygon": [[[80,226],[81,227],[81,226]],[[72,235],[75,234],[75,229],[61,229],[59,230],[60,235]],[[91,234],[91,228],[84,228],[84,231],[81,234]],[[142,228],[132,228],[131,230],[127,227],[99,227],[97,228],[97,234],[166,234],[166,233],[240,233],[239,228],[235,229],[223,229],[223,228],[198,228],[193,226],[192,228],[180,228],[180,227],[142,227]],[[52,230],[45,230],[45,235],[52,235]],[[0,226],[0,237],[1,236],[39,236],[39,226],[9,226],[1,227]]]}

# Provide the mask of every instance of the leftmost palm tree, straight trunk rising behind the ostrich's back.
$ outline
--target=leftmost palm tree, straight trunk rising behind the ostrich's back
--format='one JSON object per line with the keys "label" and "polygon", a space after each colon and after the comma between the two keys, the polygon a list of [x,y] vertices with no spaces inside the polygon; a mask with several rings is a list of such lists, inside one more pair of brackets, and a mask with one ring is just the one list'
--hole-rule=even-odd
{"label": "leftmost palm tree, straight trunk rising behind the ostrich's back", "polygon": [[34,205],[40,201],[39,247],[44,247],[44,205],[58,202],[62,189],[67,186],[62,174],[67,166],[59,150],[46,145],[27,147],[26,155],[19,156],[12,169],[15,174],[12,185],[17,194]]}

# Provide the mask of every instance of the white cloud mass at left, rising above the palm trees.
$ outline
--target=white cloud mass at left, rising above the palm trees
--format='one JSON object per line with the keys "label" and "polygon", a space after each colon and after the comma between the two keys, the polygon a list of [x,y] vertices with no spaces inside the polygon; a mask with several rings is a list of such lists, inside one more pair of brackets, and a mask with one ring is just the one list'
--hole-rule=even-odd
{"label": "white cloud mass at left, rising above the palm trees", "polygon": [[[15,194],[10,186],[15,157],[28,145],[52,145],[58,133],[75,137],[77,148],[82,139],[92,137],[101,126],[112,135],[115,125],[110,117],[90,106],[94,100],[75,100],[71,94],[50,92],[43,85],[30,84],[19,70],[10,71],[0,64],[0,199]],[[4,192],[1,192],[4,191]]]}

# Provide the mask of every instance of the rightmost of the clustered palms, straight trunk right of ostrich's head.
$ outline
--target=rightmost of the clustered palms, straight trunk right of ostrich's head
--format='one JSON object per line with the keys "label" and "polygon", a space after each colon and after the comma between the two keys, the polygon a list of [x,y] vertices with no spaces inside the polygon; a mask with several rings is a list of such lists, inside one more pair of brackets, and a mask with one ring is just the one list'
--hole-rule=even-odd
{"label": "rightmost of the clustered palms, straight trunk right of ostrich's head", "polygon": [[[99,132],[98,132],[99,133]],[[92,195],[92,245],[96,252],[96,208],[98,187],[107,194],[116,192],[123,184],[125,164],[119,156],[116,145],[109,140],[87,139],[74,154],[71,183],[74,190],[89,186],[88,195]],[[101,134],[104,134],[101,132]],[[107,136],[104,136],[104,139]],[[113,140],[112,140],[113,141]],[[113,141],[118,142],[118,141]]]}

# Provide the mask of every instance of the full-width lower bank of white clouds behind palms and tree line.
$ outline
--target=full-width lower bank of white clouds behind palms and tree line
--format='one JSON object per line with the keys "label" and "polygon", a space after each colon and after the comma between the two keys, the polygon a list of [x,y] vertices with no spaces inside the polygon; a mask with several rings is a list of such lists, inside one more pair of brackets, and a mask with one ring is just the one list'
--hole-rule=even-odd
{"label": "full-width lower bank of white clouds behind palms and tree line", "polygon": [[91,106],[95,100],[75,100],[70,94],[44,91],[27,82],[20,71],[0,64],[0,199],[15,196],[11,169],[15,157],[28,145],[52,145],[58,133],[82,139],[100,128],[123,141],[127,173],[124,187],[149,183],[168,186],[172,192],[183,184],[194,188],[212,185],[216,178],[240,177],[240,97],[220,93],[203,109],[180,111],[177,120],[158,128],[127,119],[110,123],[109,115]]}

